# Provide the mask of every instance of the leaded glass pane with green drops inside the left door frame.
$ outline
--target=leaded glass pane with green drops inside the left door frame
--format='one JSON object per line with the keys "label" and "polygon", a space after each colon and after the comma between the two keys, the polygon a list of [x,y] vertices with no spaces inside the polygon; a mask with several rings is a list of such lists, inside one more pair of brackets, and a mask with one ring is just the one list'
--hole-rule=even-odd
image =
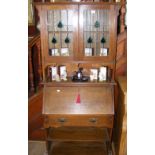
{"label": "leaded glass pane with green drops inside the left door frame", "polygon": [[47,30],[50,56],[73,55],[73,10],[50,10]]}

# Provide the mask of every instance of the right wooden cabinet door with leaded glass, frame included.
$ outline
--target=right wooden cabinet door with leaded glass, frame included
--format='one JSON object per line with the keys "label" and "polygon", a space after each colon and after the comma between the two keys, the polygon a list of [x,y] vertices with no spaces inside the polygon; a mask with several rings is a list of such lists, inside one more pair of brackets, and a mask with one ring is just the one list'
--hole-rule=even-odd
{"label": "right wooden cabinet door with leaded glass, frame included", "polygon": [[113,61],[116,53],[116,15],[113,5],[80,5],[79,48],[84,61]]}

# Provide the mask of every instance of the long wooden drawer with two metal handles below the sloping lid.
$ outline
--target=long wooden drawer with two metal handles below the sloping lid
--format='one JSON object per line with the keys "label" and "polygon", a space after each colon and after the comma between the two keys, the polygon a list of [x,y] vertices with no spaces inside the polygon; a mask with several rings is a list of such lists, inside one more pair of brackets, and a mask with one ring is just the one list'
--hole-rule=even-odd
{"label": "long wooden drawer with two metal handles below the sloping lid", "polygon": [[113,127],[113,115],[86,115],[86,116],[68,116],[68,115],[50,115],[45,116],[44,127]]}

